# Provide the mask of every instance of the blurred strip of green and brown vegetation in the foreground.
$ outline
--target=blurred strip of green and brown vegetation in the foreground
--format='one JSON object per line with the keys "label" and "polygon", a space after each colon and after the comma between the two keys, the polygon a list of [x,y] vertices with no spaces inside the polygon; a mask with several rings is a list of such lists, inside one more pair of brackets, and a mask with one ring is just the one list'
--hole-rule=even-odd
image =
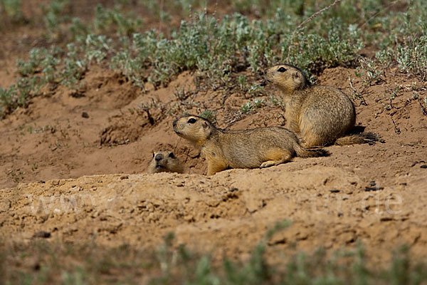
{"label": "blurred strip of green and brown vegetation in the foreground", "polygon": [[[426,264],[413,264],[408,247],[396,249],[390,264],[370,267],[362,245],[354,251],[300,252],[285,264],[268,264],[267,242],[280,222],[252,250],[247,261],[213,262],[209,254],[196,254],[184,245],[174,245],[174,234],[164,237],[157,251],[128,245],[104,248],[98,244],[71,244],[34,240],[30,244],[1,243],[0,272],[8,283],[46,284],[422,284]],[[7,260],[7,264],[6,264]],[[73,260],[73,262],[69,262]],[[16,266],[9,266],[10,263]],[[120,272],[121,274],[115,274]],[[147,279],[145,279],[147,280]]]}

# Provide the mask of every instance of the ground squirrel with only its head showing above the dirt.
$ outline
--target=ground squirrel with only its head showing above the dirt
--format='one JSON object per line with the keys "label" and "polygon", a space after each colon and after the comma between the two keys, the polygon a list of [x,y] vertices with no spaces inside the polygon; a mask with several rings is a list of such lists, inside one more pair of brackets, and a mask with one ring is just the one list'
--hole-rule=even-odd
{"label": "ground squirrel with only its head showing above the dirt", "polygon": [[184,166],[172,151],[153,152],[153,159],[149,162],[147,173],[158,172],[184,173]]}

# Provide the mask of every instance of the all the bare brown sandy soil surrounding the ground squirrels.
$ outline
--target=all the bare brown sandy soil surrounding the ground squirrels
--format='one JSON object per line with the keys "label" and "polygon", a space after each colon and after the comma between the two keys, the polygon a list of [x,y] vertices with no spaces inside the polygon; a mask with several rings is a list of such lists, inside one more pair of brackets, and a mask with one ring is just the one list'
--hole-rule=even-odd
{"label": "all the bare brown sandy soil surrounding the ground squirrels", "polygon": [[[9,66],[0,71],[2,87],[16,78],[12,59],[1,59]],[[349,68],[327,69],[319,83],[351,94],[349,76],[360,88]],[[176,244],[245,259],[266,229],[290,220],[268,242],[272,261],[277,249],[337,250],[358,242],[373,261],[386,261],[399,244],[426,257],[427,116],[414,95],[424,98],[427,86],[394,68],[382,78],[367,88],[367,105],[355,104],[357,124],[384,143],[331,146],[330,157],[206,177],[199,151],[172,131],[177,114],[216,110],[219,127],[239,129],[283,125],[284,110],[267,106],[240,118],[248,99],[196,93],[189,72],[141,93],[124,76],[91,66],[79,96],[46,88],[0,121],[0,238],[27,241],[45,231],[50,240],[154,247],[175,232]],[[174,95],[182,88],[192,93],[185,102]],[[150,103],[148,114],[140,106]],[[145,174],[152,151],[164,149],[174,150],[189,174]]]}

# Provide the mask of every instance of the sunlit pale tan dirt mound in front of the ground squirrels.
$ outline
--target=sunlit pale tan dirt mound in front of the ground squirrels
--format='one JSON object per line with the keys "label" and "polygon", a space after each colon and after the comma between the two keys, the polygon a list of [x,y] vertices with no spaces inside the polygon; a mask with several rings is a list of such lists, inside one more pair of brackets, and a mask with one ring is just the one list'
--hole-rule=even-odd
{"label": "sunlit pale tan dirt mound in front of the ground squirrels", "polygon": [[374,187],[357,172],[316,165],[321,160],[304,160],[315,166],[301,170],[289,163],[214,177],[95,175],[19,185],[2,190],[1,238],[26,241],[47,232],[70,242],[153,247],[175,232],[176,244],[240,259],[266,229],[290,220],[268,241],[271,259],[279,248],[337,250],[357,242],[374,260],[389,259],[401,243],[416,257],[427,254],[425,170],[414,169],[406,185]]}

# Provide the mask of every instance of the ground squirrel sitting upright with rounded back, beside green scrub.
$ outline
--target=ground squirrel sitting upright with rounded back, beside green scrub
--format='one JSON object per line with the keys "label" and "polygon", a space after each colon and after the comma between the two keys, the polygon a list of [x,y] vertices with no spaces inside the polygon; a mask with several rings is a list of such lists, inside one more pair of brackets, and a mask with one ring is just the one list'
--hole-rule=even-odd
{"label": "ground squirrel sitting upright with rounded back, beside green scrub", "polygon": [[354,128],[356,112],[352,100],[337,88],[312,86],[300,69],[287,64],[267,68],[264,75],[282,90],[286,103],[285,126],[302,135],[305,147],[376,140],[371,133],[348,135]]}

